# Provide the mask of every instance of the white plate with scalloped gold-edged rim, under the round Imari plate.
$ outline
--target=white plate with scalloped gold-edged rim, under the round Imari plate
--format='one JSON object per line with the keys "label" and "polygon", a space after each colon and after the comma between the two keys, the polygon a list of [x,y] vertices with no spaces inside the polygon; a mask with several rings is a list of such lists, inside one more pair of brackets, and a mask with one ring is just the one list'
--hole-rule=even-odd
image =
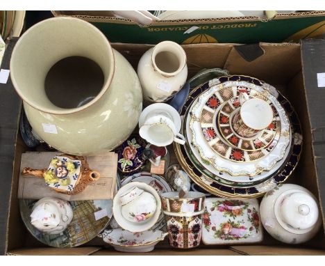
{"label": "white plate with scalloped gold-edged rim, under the round Imari plate", "polygon": [[[234,96],[238,95],[238,92],[240,92],[242,88],[258,91],[259,93],[265,95],[269,101],[274,104],[274,107],[278,111],[278,114],[281,118],[281,136],[273,150],[269,152],[269,154],[263,159],[254,162],[231,162],[230,160],[217,155],[217,153],[209,146],[205,137],[203,136],[200,123],[201,111],[211,95],[216,95],[220,101],[223,101],[222,96],[219,94],[219,91],[221,91],[223,88],[232,88]],[[226,81],[222,84],[211,86],[208,91],[202,93],[199,96],[197,103],[192,106],[190,112],[192,115],[192,119],[190,120],[190,130],[192,130],[192,143],[193,146],[199,150],[201,158],[210,162],[218,171],[225,171],[234,176],[253,176],[263,171],[271,170],[276,162],[284,157],[285,150],[290,143],[290,123],[288,116],[285,114],[285,110],[281,104],[278,102],[276,97],[266,91],[265,88],[251,84],[247,81]],[[231,147],[229,147],[229,149],[231,150]]]}

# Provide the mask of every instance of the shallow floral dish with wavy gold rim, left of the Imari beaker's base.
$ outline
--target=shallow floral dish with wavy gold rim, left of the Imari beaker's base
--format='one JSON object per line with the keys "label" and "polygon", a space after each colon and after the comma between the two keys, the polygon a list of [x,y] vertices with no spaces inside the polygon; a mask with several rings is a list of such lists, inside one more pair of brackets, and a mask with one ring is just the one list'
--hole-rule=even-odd
{"label": "shallow floral dish with wavy gold rim, left of the Imari beaker's base", "polygon": [[131,233],[122,228],[104,230],[99,237],[122,252],[149,252],[156,244],[165,239],[167,233],[160,230],[147,230],[141,233]]}

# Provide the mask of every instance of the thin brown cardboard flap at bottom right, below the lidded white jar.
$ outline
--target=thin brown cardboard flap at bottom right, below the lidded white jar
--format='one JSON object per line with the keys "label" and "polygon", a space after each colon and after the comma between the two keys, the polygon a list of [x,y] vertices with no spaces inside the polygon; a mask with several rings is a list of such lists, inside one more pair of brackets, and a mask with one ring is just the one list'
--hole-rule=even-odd
{"label": "thin brown cardboard flap at bottom right, below the lidded white jar", "polygon": [[301,249],[299,247],[269,247],[269,246],[232,246],[233,251],[241,252],[253,256],[321,256],[325,255],[325,250],[321,249]]}

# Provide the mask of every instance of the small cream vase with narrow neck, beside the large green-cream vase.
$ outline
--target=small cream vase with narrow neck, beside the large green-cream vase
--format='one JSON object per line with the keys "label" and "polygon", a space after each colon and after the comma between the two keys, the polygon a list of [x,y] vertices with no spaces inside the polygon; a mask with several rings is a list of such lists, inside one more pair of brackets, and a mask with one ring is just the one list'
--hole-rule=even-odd
{"label": "small cream vase with narrow neck, beside the large green-cream vase", "polygon": [[166,102],[181,90],[188,77],[185,51],[176,42],[158,43],[140,58],[138,77],[146,102]]}

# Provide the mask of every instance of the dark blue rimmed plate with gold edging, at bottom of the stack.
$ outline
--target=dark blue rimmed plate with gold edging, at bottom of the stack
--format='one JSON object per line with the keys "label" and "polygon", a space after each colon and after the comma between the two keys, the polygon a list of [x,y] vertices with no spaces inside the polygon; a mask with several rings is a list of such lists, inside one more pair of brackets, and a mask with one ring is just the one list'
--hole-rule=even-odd
{"label": "dark blue rimmed plate with gold edging, at bottom of the stack", "polygon": [[[264,86],[265,88],[269,88],[268,84],[264,84],[258,79],[245,76],[221,77],[217,81],[216,79],[213,79],[213,82],[220,83],[220,81],[225,82],[236,80],[244,80],[256,84],[258,86]],[[191,91],[183,109],[181,110],[181,115],[184,116],[186,110],[190,108],[194,100],[196,100],[201,93],[208,90],[210,86],[211,81],[208,81]],[[290,176],[292,171],[297,166],[297,163],[299,162],[299,157],[301,153],[301,126],[297,114],[294,112],[294,109],[292,109],[290,102],[288,102],[285,97],[283,97],[281,94],[278,94],[273,89],[270,90],[270,93],[277,96],[278,102],[280,102],[283,108],[285,109],[285,112],[289,116],[290,123],[292,125],[292,134],[290,135],[292,139],[291,146],[288,153],[288,157],[283,161],[283,164],[279,166],[278,170],[273,173],[270,178],[267,178],[265,182],[262,182],[258,185],[252,185],[251,187],[231,187],[231,185],[223,185],[222,183],[216,182],[215,180],[208,178],[206,175],[203,175],[201,171],[197,169],[197,166],[195,166],[195,164],[192,162],[190,156],[188,156],[188,152],[185,150],[185,147],[174,143],[174,150],[176,153],[176,157],[178,158],[178,162],[180,162],[183,169],[189,174],[190,178],[197,185],[199,185],[209,193],[217,196],[224,196],[230,198],[255,198],[258,196],[263,196],[265,192],[272,189],[275,185],[284,182]],[[204,169],[203,165],[201,165],[201,169]],[[215,178],[217,178],[217,175],[215,175]]]}

